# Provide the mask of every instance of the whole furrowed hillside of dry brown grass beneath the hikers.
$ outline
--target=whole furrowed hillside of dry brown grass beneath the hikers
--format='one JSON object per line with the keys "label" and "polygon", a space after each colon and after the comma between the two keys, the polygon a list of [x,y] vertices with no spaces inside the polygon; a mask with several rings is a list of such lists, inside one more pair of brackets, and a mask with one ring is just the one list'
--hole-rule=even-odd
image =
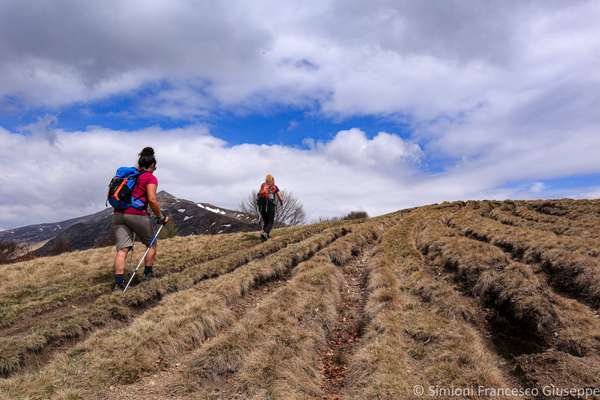
{"label": "whole furrowed hillside of dry brown grass beneath the hikers", "polygon": [[174,238],[157,279],[126,295],[109,292],[112,256],[0,268],[0,398],[600,387],[598,201],[444,203],[267,243]]}

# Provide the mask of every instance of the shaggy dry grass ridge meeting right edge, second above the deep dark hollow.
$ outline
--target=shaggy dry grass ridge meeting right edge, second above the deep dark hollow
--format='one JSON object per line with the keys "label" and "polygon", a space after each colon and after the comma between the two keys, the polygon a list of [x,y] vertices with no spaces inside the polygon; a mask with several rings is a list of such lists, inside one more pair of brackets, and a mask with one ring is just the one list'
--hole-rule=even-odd
{"label": "shaggy dry grass ridge meeting right edge, second above the deep dark hollow", "polygon": [[590,239],[509,227],[469,210],[457,213],[452,225],[466,236],[501,248],[515,260],[540,265],[558,291],[600,307],[600,249]]}

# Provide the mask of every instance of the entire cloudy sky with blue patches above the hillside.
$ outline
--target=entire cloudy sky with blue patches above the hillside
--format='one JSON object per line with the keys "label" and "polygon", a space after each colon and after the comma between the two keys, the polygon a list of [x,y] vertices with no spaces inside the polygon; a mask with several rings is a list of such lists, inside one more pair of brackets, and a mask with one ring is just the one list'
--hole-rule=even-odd
{"label": "entire cloudy sky with blue patches above the hillside", "polygon": [[310,218],[600,195],[597,1],[0,1],[0,228],[159,189]]}

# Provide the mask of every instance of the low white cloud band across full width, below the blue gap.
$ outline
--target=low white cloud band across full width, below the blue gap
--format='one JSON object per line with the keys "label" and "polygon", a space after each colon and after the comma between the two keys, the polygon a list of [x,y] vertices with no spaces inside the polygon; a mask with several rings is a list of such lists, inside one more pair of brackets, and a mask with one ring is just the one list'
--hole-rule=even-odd
{"label": "low white cloud band across full width, below the blue gap", "polygon": [[[52,123],[47,118],[47,123]],[[420,147],[380,132],[369,139],[359,129],[338,132],[328,142],[307,140],[305,149],[281,145],[229,145],[204,126],[134,132],[89,128],[45,135],[0,129],[0,226],[57,221],[101,209],[114,170],[133,165],[144,146],[154,146],[159,188],[194,201],[236,208],[266,173],[293,191],[310,218],[366,210],[371,215],[444,200],[560,196],[540,184],[549,176],[600,168],[600,138],[571,148],[546,144],[537,153],[507,159],[467,160],[444,173],[425,173]],[[584,136],[589,139],[591,136]],[[577,160],[565,157],[584,144]],[[511,187],[512,181],[530,185]],[[508,185],[508,186],[507,186]],[[583,197],[590,189],[564,194]],[[591,195],[591,194],[590,194]]]}

